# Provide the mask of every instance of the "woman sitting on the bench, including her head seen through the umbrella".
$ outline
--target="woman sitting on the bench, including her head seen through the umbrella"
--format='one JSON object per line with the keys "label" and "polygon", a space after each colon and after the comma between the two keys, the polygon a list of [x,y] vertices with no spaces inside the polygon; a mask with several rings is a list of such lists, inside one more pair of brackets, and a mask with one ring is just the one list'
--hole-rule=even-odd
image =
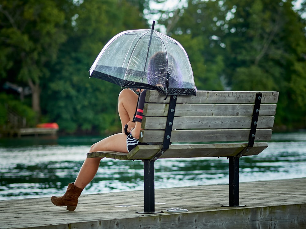
{"label": "woman sitting on the bench, including her head seen through the umbrella", "polygon": [[[167,61],[166,53],[163,52],[157,52],[150,58],[147,69],[147,80],[150,85],[159,87],[173,85],[177,88],[180,87],[180,85],[177,84],[177,82],[180,81],[178,80],[180,79],[180,74],[177,74],[177,70],[175,70],[176,67],[173,65],[175,61],[172,56],[168,56],[168,58],[170,58],[169,61]],[[171,64],[168,66],[169,62]],[[168,70],[171,70],[171,73],[169,73]],[[169,74],[174,74],[174,77],[171,77],[168,82],[167,75]],[[138,96],[130,89],[123,89],[118,98],[118,112],[121,120],[122,132],[93,144],[89,152],[116,151],[129,153],[129,151],[137,145],[147,145],[147,143],[140,143],[138,141],[146,90],[141,92],[140,89],[137,89],[136,91],[140,93],[140,99],[135,119],[133,120],[133,116],[137,106]],[[129,135],[125,134],[125,124],[128,125],[127,131],[130,133]],[[97,173],[101,159],[102,158],[86,158],[74,183],[68,185],[67,191],[63,196],[52,196],[52,203],[57,206],[67,206],[67,210],[74,211],[76,209],[77,200],[84,187],[91,182]]]}

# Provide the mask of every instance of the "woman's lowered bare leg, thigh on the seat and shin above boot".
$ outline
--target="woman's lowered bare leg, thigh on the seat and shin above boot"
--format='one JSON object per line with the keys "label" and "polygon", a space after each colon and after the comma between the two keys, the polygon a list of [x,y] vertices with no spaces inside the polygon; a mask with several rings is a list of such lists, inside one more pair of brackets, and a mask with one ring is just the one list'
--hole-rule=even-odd
{"label": "woman's lowered bare leg, thigh on the seat and shin above boot", "polygon": [[[101,141],[93,144],[89,150],[89,152],[96,151],[117,151],[128,153],[126,149],[126,135],[124,133],[118,133],[102,139]],[[98,171],[101,159],[102,158],[85,159],[74,182],[76,187],[84,188],[89,184],[89,182],[91,182]]]}

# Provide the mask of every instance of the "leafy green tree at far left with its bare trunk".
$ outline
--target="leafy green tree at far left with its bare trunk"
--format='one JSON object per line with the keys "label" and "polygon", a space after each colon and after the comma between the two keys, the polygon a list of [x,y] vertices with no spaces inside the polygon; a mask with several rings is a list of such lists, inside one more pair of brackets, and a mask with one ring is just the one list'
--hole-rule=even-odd
{"label": "leafy green tree at far left with its bare trunk", "polygon": [[32,89],[32,109],[40,113],[40,81],[49,74],[65,41],[64,12],[56,1],[2,1],[0,5],[0,77]]}

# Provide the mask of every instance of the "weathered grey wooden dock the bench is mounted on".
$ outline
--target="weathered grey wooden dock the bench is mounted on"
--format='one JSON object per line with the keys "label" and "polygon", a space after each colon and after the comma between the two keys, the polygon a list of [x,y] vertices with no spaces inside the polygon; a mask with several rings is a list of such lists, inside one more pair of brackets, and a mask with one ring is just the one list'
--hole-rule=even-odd
{"label": "weathered grey wooden dock the bench is mounted on", "polygon": [[240,183],[240,204],[228,204],[228,185],[155,190],[155,210],[137,214],[143,191],[84,194],[74,212],[50,198],[0,201],[0,228],[306,228],[306,178]]}

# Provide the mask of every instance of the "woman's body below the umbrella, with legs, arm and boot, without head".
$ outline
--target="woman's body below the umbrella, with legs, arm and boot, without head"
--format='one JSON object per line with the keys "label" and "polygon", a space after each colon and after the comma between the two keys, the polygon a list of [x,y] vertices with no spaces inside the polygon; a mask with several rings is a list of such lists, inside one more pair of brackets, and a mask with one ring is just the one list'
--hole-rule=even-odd
{"label": "woman's body below the umbrella, with legs, arm and boot, without head", "polygon": [[[138,139],[146,90],[140,92],[139,89],[137,89],[136,91],[141,93],[137,114],[134,119],[136,122],[132,122],[131,120],[133,120],[135,113],[138,95],[130,89],[123,89],[118,97],[118,112],[121,120],[122,132],[111,135],[93,144],[89,152],[117,151],[129,153],[129,151],[138,144],[142,144],[138,142]],[[128,125],[128,132],[130,133],[128,136],[124,133],[125,124]],[[97,173],[101,159],[102,158],[86,158],[74,183],[68,185],[67,191],[63,196],[52,196],[51,202],[56,206],[67,206],[67,210],[74,211],[81,192]]]}

